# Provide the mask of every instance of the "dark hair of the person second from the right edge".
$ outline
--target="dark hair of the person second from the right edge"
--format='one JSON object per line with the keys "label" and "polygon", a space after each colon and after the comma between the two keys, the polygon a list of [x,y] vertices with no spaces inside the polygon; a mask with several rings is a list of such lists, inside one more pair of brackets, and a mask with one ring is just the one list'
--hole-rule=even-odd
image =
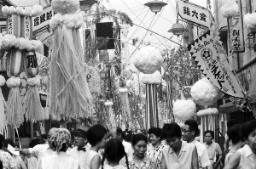
{"label": "dark hair of the person second from the right edge", "polygon": [[232,141],[232,144],[237,144],[239,141],[242,140],[242,125],[236,124],[228,129],[228,136],[229,139]]}

